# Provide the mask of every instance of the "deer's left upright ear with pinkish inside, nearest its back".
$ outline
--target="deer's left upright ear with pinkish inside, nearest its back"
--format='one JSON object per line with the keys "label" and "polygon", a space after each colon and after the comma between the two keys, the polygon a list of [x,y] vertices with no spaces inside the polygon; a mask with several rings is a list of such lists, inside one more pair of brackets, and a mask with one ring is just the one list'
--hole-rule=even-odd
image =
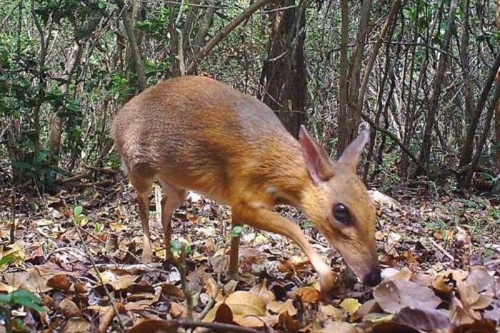
{"label": "deer's left upright ear with pinkish inside, nearest its back", "polygon": [[299,130],[299,143],[307,170],[314,184],[319,185],[321,182],[329,180],[334,175],[334,168],[329,156],[326,150],[311,138],[304,125],[301,125]]}

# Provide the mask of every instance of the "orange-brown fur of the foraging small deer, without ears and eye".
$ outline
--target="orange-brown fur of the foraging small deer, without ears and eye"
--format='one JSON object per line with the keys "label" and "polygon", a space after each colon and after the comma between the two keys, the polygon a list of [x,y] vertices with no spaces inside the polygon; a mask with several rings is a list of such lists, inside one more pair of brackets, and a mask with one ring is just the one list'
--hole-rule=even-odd
{"label": "orange-brown fur of the foraging small deer, without ears and eye", "polygon": [[[359,153],[346,163],[321,159],[334,175],[314,182],[301,144],[256,98],[210,78],[173,78],[126,103],[114,119],[111,135],[139,193],[146,261],[151,260],[146,208],[157,178],[166,192],[162,201],[166,242],[170,215],[189,189],[230,205],[235,225],[244,222],[291,237],[311,259],[325,290],[332,282],[329,267],[299,227],[269,210],[277,203],[303,209],[360,277],[378,269],[374,208],[355,170],[347,167],[356,165]],[[318,152],[324,155],[321,148]],[[339,227],[331,220],[336,202],[349,206],[356,220],[353,227]],[[234,274],[237,246],[236,255],[233,251]]]}

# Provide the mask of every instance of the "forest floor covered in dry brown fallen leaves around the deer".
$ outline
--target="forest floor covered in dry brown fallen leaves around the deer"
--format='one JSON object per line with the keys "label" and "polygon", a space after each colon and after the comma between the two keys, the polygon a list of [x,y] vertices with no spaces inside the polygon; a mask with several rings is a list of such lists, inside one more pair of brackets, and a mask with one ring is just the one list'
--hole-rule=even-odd
{"label": "forest floor covered in dry brown fallen leaves around the deer", "polygon": [[[141,265],[134,190],[119,173],[89,175],[53,193],[0,192],[0,296],[28,290],[41,299],[0,297],[0,323],[37,332],[498,329],[498,199],[444,188],[377,188],[384,193],[372,192],[384,282],[369,288],[339,278],[337,294],[326,300],[298,247],[250,227],[241,234],[239,280],[229,280],[231,212],[196,193],[174,214],[173,237],[190,249],[177,267],[161,263],[163,234],[151,195],[156,262]],[[303,215],[276,210],[298,222],[332,273],[344,276],[341,257]]]}

